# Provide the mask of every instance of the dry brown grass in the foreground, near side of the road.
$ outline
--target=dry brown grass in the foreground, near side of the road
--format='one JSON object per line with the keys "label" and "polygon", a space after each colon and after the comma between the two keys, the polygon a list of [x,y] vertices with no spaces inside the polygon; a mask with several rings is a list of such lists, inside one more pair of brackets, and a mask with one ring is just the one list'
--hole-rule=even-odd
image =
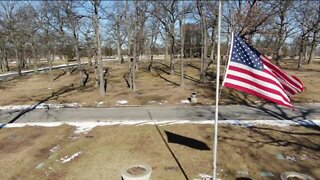
{"label": "dry brown grass in the foreground, near side of the road", "polygon": [[[211,125],[166,125],[161,134],[189,179],[212,174]],[[120,179],[134,163],[152,167],[152,179],[185,179],[156,126],[101,126],[87,134],[75,127],[0,129],[0,179]],[[280,179],[284,171],[320,177],[320,133],[312,127],[220,126],[218,177]],[[77,154],[74,159],[67,157]],[[277,156],[283,156],[279,159]],[[261,177],[271,172],[273,177]]]}

